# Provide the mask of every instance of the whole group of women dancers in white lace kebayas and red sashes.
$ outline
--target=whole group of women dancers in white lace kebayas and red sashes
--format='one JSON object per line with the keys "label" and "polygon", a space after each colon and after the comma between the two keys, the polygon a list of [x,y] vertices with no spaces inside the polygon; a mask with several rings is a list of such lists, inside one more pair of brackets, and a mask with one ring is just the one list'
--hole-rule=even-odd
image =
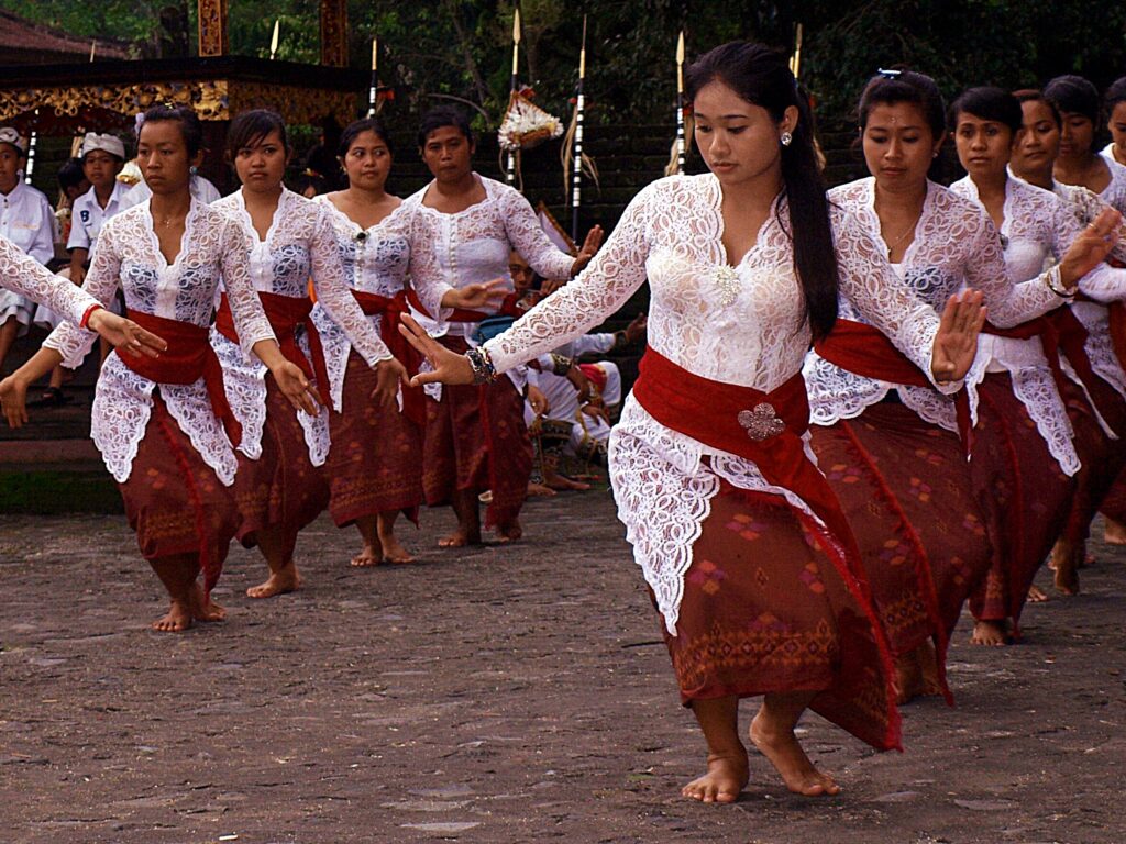
{"label": "whole group of women dancers in white lace kebayas and red sashes", "polygon": [[[1126,499],[1126,167],[1092,150],[1093,87],[974,88],[947,110],[929,77],[881,72],[858,109],[870,177],[826,191],[784,56],[726,44],[686,84],[709,172],[650,185],[577,257],[473,171],[448,108],[419,131],[434,180],[402,201],[377,120],[343,133],[349,187],[311,201],[283,183],[280,118],[242,114],[242,187],[206,205],[198,119],[154,107],[151,197],[105,223],[81,289],[0,241],[3,285],[65,320],[0,383],[10,424],[95,332],[117,345],[92,436],[170,596],[154,627],[223,617],[234,538],[269,567],[250,594],[296,589],[297,533],[325,508],[357,526],[361,563],[406,559],[396,517],[422,503],[455,510],[443,545],[479,542],[485,490],[485,527],[519,538],[529,381],[646,280],[649,348],[608,457],[707,743],[686,796],[745,785],[752,695],[750,739],[786,785],[837,793],[795,737],[807,708],[899,747],[900,703],[951,698],[964,603],[974,641],[999,645],[1049,554],[1078,589],[1092,517]],[[947,188],[930,174],[951,137],[968,176]],[[513,253],[557,289],[531,304]],[[119,290],[127,316],[107,307]]]}

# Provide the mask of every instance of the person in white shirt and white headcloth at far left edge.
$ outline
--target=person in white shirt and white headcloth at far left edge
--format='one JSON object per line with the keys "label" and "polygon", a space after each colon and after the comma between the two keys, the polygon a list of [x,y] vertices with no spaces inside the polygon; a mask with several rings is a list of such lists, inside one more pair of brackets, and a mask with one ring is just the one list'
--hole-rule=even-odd
{"label": "person in white shirt and white headcloth at far left edge", "polygon": [[[0,235],[46,264],[55,250],[55,215],[46,196],[24,182],[26,163],[27,141],[10,126],[0,128]],[[25,296],[0,290],[0,367],[34,309]]]}

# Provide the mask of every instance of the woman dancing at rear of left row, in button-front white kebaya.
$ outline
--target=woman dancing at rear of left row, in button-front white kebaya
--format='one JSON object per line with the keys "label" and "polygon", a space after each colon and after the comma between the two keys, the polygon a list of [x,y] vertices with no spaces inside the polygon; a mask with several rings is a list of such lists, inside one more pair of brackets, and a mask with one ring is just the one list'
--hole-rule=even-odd
{"label": "woman dancing at rear of left row, in button-front white kebaya", "polygon": [[[544,278],[568,279],[590,261],[602,230],[590,231],[578,257],[557,250],[527,199],[473,171],[473,133],[456,109],[439,107],[423,116],[419,147],[434,181],[403,203],[411,215],[411,282],[422,308],[435,317],[423,323],[449,349],[462,352],[476,343],[476,323],[498,309],[512,315],[511,307],[493,302],[485,309],[441,311],[440,298],[464,294],[467,285],[499,279],[490,289],[498,299],[508,295],[511,304],[512,250]],[[517,380],[455,386],[427,402],[422,476],[427,503],[450,503],[457,514],[457,530],[439,542],[445,547],[481,541],[477,495],[485,490],[492,491],[485,527],[494,526],[501,541],[521,536],[519,514],[531,474],[531,446],[524,424],[524,385]]]}

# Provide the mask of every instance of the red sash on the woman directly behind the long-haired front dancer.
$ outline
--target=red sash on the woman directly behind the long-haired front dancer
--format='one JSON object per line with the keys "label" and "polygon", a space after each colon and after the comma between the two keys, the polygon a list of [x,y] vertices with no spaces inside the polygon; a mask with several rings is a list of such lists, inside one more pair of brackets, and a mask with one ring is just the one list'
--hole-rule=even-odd
{"label": "red sash on the woman directly behind the long-haired front dancer", "polygon": [[[813,350],[830,363],[865,378],[909,387],[935,386],[878,329],[861,322],[838,320],[829,336],[815,342]],[[966,390],[954,396],[954,412],[962,446],[968,455],[973,447],[973,423]]]}

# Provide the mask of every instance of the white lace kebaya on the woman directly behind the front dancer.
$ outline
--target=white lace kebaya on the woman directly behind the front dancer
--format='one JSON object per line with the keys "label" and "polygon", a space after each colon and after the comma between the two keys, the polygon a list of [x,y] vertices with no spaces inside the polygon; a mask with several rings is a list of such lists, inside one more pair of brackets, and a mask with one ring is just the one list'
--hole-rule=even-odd
{"label": "white lace kebaya on the woman directly behind the front dancer", "polygon": [[[829,198],[860,221],[886,259],[887,245],[879,234],[875,206],[876,180],[868,177],[841,185],[829,191]],[[976,203],[932,181],[927,182],[914,241],[895,270],[901,284],[937,313],[942,312],[954,294],[967,287],[981,290],[990,320],[1002,327],[1019,325],[1060,305],[1060,297],[1042,279],[1013,285],[993,221]],[[840,316],[866,322],[843,293]],[[921,419],[957,432],[954,402],[928,387],[865,378],[830,363],[816,352],[810,352],[804,371],[813,424],[831,425],[858,416],[897,389],[903,404]]]}

